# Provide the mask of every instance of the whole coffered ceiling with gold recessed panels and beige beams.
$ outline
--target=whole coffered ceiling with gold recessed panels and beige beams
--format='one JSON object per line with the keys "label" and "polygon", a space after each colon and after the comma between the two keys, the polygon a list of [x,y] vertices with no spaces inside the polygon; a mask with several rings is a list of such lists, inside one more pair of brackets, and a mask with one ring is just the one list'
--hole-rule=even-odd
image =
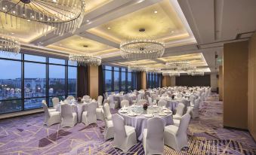
{"label": "whole coffered ceiling with gold recessed panels and beige beams", "polygon": [[[80,29],[62,36],[51,29],[42,35],[44,25],[35,28],[26,21],[22,26],[15,20],[6,24],[5,14],[0,14],[0,21],[4,31],[17,37],[23,47],[39,47],[37,53],[93,53],[103,58],[103,64],[122,66],[162,67],[171,60],[188,60],[211,72],[221,65],[225,43],[248,40],[256,29],[254,0],[85,0],[85,4]],[[140,28],[146,31],[139,32]],[[165,42],[162,58],[122,59],[120,42],[145,36]]]}

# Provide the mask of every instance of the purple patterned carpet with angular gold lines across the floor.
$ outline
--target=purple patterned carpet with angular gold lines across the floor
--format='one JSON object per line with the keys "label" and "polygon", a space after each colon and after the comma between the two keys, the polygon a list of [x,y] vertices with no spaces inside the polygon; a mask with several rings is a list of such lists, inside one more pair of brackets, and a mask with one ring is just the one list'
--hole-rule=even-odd
{"label": "purple patterned carpet with angular gold lines across the floor", "polygon": [[[177,152],[165,146],[165,154],[256,154],[256,143],[248,132],[224,129],[222,102],[211,96],[201,106],[200,117],[190,120],[189,144]],[[0,154],[143,154],[140,142],[128,153],[103,141],[103,121],[73,128],[60,124],[43,126],[43,114],[0,121]]]}

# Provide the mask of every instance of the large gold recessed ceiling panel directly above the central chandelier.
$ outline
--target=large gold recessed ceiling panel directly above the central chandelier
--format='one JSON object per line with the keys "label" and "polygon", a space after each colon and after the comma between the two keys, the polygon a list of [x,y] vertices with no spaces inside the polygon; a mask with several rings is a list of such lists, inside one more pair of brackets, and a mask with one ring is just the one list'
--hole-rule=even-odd
{"label": "large gold recessed ceiling panel directly above the central chandelier", "polygon": [[[141,28],[145,32],[139,32]],[[168,0],[119,17],[88,32],[116,43],[128,38],[154,37],[168,42],[190,37]]]}

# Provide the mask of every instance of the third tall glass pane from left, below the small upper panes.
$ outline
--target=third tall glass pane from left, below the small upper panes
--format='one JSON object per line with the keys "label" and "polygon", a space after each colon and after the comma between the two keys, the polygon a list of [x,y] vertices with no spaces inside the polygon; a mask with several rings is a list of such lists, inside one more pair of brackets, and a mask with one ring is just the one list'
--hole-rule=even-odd
{"label": "third tall glass pane from left, below the small upper panes", "polygon": [[65,66],[49,65],[49,96],[65,94]]}

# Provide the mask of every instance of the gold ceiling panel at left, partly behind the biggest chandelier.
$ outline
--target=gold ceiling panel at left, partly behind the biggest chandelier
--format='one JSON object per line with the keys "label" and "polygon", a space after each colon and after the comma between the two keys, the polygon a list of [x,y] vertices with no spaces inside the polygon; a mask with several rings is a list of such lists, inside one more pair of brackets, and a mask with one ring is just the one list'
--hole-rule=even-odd
{"label": "gold ceiling panel at left, partly behind the biggest chandelier", "polygon": [[35,23],[32,21],[29,22],[20,18],[11,17],[8,14],[6,18],[4,13],[0,13],[0,16],[0,29],[2,29],[2,26],[4,26],[4,32],[16,37],[17,39],[19,39],[19,41],[24,43],[29,43],[36,38],[42,37],[43,29],[45,32],[48,33],[53,30],[51,29],[51,26],[47,26],[44,24],[35,25]]}

